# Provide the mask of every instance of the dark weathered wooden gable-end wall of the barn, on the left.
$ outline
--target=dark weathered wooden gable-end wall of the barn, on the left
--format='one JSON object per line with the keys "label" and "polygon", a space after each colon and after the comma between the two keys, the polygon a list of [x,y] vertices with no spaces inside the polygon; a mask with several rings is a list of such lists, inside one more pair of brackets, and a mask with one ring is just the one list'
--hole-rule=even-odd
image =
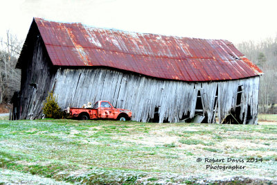
{"label": "dark weathered wooden gable-end wall of the barn, on the left", "polygon": [[33,119],[42,115],[43,100],[57,71],[51,64],[42,37],[38,33],[33,35],[35,44],[26,51],[29,54],[21,67],[19,107],[13,112],[15,119]]}

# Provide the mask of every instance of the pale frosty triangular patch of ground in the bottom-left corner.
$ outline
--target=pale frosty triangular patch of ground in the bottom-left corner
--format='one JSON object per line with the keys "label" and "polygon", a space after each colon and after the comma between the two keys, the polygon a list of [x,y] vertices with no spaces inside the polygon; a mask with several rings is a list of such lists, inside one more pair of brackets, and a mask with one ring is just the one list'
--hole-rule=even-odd
{"label": "pale frosty triangular patch of ground in the bottom-left corner", "polygon": [[20,173],[13,170],[0,169],[0,184],[69,184],[54,179]]}

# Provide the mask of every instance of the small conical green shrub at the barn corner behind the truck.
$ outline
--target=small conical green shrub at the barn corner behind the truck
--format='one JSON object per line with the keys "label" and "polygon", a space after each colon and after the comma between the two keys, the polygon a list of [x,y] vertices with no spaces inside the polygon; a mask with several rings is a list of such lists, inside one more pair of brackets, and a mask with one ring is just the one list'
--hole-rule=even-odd
{"label": "small conical green shrub at the barn corner behind the truck", "polygon": [[53,92],[49,93],[44,103],[43,113],[46,118],[62,118],[63,112],[59,105],[57,105],[56,97]]}

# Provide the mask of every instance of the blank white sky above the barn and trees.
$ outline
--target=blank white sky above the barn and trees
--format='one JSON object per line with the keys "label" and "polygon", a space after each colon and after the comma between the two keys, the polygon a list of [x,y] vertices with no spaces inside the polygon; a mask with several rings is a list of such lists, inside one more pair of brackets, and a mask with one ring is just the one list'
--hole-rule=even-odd
{"label": "blank white sky above the barn and trees", "polygon": [[81,22],[98,28],[234,44],[277,35],[277,0],[1,0],[0,38],[25,39],[33,21]]}

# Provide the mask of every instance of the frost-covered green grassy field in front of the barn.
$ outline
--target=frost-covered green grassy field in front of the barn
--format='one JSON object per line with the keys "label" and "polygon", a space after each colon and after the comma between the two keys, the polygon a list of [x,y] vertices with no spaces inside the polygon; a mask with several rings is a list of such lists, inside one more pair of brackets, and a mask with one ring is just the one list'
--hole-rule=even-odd
{"label": "frost-covered green grassy field in front of the barn", "polygon": [[274,123],[0,121],[0,184],[277,183],[276,132]]}

